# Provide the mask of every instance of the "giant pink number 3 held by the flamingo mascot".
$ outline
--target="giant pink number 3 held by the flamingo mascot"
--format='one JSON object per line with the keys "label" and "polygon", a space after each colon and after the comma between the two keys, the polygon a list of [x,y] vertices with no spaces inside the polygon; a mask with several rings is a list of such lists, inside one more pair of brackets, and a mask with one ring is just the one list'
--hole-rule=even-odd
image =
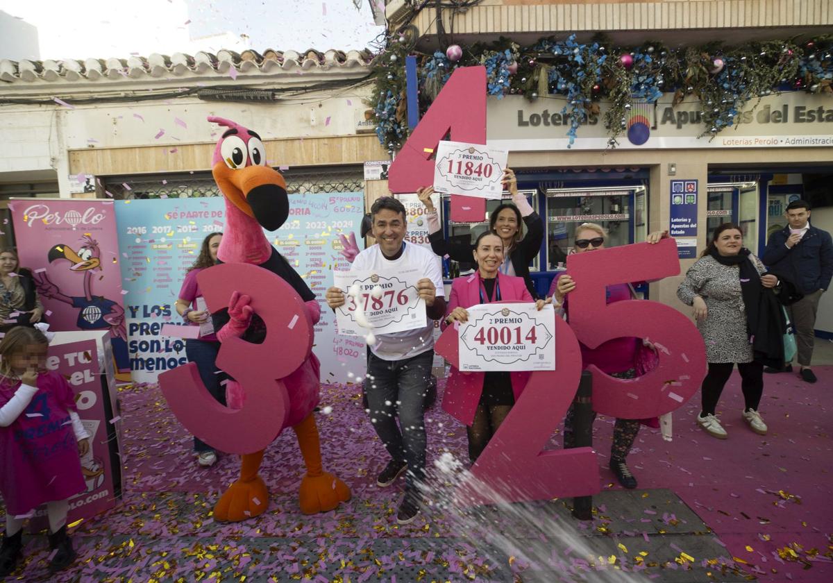
{"label": "giant pink number 3 held by the flamingo mascot", "polygon": [[312,351],[312,321],[297,291],[262,267],[224,263],[199,273],[197,282],[211,312],[228,306],[233,291],[251,296],[252,309],[266,322],[266,340],[229,338],[220,347],[217,367],[246,391],[242,409],[215,401],[192,362],[159,376],[162,394],[182,425],[208,445],[228,453],[261,451],[286,424],[289,401],[281,379]]}

